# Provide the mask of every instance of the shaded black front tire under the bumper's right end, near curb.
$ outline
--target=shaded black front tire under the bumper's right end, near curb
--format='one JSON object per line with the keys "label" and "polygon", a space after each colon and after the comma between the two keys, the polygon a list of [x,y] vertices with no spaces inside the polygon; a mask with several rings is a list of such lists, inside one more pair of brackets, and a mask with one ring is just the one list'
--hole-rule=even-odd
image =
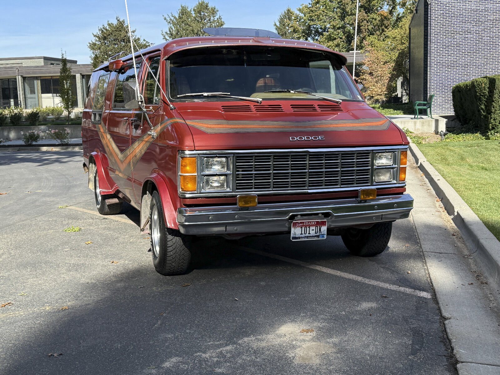
{"label": "shaded black front tire under the bumper's right end, near curb", "polygon": [[348,228],[342,234],[347,249],[358,256],[375,256],[389,243],[392,222],[380,222],[369,229]]}

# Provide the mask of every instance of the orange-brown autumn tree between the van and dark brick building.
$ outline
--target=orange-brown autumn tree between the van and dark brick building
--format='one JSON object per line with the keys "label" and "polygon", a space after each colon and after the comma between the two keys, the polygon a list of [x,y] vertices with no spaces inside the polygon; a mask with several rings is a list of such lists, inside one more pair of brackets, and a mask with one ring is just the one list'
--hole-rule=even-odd
{"label": "orange-brown autumn tree between the van and dark brick building", "polygon": [[389,28],[381,36],[369,36],[364,44],[364,69],[359,81],[366,89],[370,101],[386,99],[396,90],[396,82],[403,78],[403,89],[407,92],[409,75],[409,22],[406,13],[397,27]]}

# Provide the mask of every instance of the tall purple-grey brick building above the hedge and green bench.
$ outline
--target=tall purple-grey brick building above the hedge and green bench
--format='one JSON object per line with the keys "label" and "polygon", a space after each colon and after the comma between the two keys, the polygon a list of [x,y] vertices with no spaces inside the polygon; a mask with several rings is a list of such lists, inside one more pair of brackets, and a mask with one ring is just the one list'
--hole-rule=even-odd
{"label": "tall purple-grey brick building above the hedge and green bench", "polygon": [[418,0],[409,25],[410,100],[435,94],[453,114],[451,87],[500,73],[500,0]]}

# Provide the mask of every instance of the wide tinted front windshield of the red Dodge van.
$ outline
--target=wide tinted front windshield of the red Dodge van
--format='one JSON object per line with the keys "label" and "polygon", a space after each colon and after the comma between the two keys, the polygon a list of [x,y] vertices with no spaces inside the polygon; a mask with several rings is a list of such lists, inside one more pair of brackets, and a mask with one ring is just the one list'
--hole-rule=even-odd
{"label": "wide tinted front windshield of the red Dodge van", "polygon": [[[326,51],[248,45],[192,48],[169,58],[167,86],[173,100],[234,100],[203,92],[314,100],[304,92],[289,92],[300,90],[362,101],[348,74],[338,57]],[[200,94],[185,95],[194,93]]]}

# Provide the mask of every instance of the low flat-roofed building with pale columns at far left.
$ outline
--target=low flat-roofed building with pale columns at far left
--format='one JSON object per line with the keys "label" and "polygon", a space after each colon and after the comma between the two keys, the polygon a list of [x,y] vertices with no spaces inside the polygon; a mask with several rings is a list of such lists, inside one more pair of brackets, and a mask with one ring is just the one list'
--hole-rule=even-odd
{"label": "low flat-roofed building with pale columns at far left", "polygon": [[[67,60],[73,75],[76,93],[74,106],[82,108],[92,65]],[[59,69],[57,57],[0,58],[0,108],[21,106],[26,109],[60,105]]]}

